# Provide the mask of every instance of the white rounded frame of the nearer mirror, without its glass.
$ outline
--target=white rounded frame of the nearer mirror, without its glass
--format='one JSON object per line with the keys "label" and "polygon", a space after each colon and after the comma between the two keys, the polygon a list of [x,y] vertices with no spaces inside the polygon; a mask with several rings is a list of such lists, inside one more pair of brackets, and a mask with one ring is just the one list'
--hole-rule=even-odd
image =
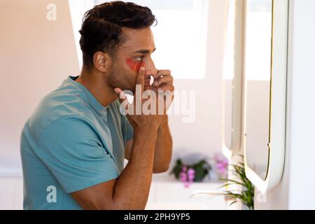
{"label": "white rounded frame of the nearer mirror, without its glass", "polygon": [[[246,6],[247,6],[246,0]],[[244,31],[246,32],[246,10],[244,10]],[[244,33],[246,34],[246,33]],[[245,36],[245,35],[244,35]],[[244,41],[244,47],[246,41]],[[244,48],[245,49],[245,48]],[[245,52],[245,51],[244,51]],[[244,62],[246,63],[246,62]],[[288,0],[272,0],[272,74],[269,123],[269,161],[266,179],[261,179],[248,167],[246,141],[243,130],[242,146],[247,178],[253,185],[266,193],[281,181],[286,154],[286,87],[288,64]],[[245,78],[243,86],[245,87]],[[245,90],[246,91],[246,90]],[[246,127],[246,94],[243,94],[243,127]]]}

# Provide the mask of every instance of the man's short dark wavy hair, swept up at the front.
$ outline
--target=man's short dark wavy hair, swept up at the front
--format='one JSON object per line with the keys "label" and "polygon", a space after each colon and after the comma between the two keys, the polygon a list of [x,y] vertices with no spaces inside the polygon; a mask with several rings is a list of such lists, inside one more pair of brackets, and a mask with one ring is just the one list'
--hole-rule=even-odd
{"label": "man's short dark wavy hair, swept up at the front", "polygon": [[123,27],[143,29],[154,23],[157,20],[151,9],[135,3],[112,1],[94,6],[85,13],[79,31],[84,66],[92,68],[93,56],[97,51],[115,57],[116,48],[125,41]]}

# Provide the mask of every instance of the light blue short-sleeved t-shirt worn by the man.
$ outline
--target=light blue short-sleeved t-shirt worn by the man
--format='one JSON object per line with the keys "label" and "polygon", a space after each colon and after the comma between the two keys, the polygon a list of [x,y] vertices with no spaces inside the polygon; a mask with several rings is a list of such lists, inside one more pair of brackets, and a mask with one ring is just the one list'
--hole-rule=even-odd
{"label": "light blue short-sleeved t-shirt worn by the man", "polygon": [[133,128],[119,99],[104,107],[76,78],[44,97],[22,130],[24,209],[81,209],[69,193],[124,169]]}

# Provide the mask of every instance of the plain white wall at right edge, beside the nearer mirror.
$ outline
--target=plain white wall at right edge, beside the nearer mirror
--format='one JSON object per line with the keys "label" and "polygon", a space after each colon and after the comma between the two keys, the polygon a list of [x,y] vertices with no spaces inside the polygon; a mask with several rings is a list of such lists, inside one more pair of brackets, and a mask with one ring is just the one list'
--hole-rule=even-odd
{"label": "plain white wall at right edge, beside the nearer mirror", "polygon": [[286,164],[256,209],[315,209],[315,1],[290,1]]}

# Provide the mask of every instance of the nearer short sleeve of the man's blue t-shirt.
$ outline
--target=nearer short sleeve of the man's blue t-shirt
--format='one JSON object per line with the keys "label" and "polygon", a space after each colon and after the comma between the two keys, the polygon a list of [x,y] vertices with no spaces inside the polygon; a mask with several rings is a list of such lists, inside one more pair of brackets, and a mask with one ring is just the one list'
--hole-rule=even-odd
{"label": "nearer short sleeve of the man's blue t-shirt", "polygon": [[36,154],[66,193],[73,193],[118,178],[107,150],[85,120],[61,118],[43,130]]}

